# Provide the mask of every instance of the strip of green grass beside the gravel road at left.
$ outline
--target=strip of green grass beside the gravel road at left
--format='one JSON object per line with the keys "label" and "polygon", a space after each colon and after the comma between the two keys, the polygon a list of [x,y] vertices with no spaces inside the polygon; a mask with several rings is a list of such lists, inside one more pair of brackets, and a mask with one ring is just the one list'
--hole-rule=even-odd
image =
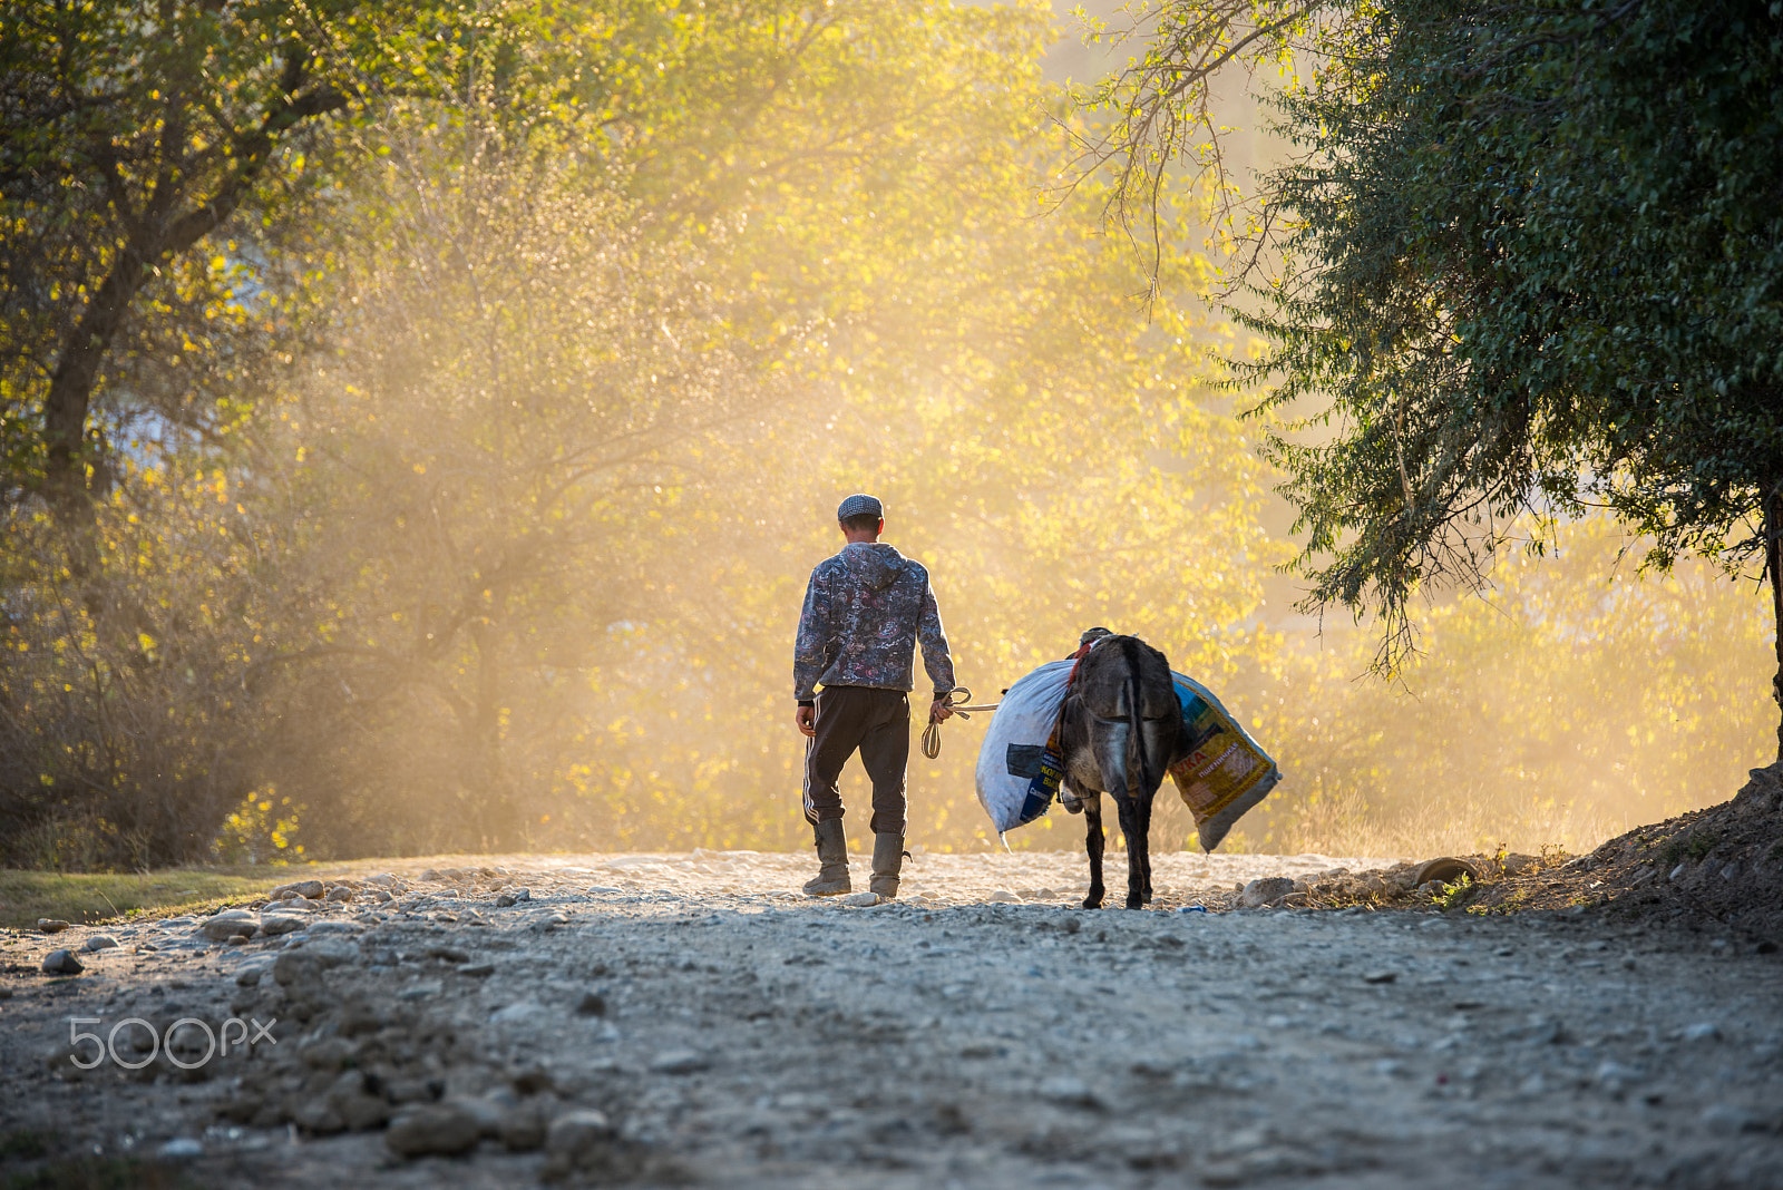
{"label": "strip of green grass beside the gravel road at left", "polygon": [[37,917],[98,923],[153,910],[200,912],[303,880],[308,868],[168,868],[146,873],[0,869],[0,926],[34,928]]}

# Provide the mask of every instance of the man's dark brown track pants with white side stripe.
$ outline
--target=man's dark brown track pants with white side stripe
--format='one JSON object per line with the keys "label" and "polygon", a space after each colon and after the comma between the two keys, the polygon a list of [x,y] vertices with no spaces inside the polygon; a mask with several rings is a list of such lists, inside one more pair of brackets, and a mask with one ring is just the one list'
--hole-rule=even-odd
{"label": "man's dark brown track pants with white side stripe", "polygon": [[818,693],[817,736],[804,741],[806,819],[842,818],[836,780],[856,748],[874,782],[874,834],[904,834],[909,697],[902,689],[826,686]]}

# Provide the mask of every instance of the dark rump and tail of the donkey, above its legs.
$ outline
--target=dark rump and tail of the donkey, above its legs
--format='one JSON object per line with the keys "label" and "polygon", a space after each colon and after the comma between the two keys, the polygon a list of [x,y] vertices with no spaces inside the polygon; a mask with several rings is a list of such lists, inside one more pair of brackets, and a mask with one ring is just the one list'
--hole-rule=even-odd
{"label": "dark rump and tail of the donkey, above its legs", "polygon": [[1182,704],[1164,654],[1138,636],[1097,641],[1072,695],[1088,713],[1088,746],[1104,793],[1150,798],[1177,750]]}

